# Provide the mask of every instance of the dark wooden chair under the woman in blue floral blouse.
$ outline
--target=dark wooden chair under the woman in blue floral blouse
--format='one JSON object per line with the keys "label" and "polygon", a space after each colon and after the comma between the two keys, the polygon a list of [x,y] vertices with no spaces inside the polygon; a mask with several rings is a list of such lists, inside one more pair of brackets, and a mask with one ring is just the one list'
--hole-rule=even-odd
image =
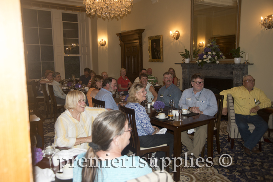
{"label": "dark wooden chair under the woman in blue floral blouse", "polygon": [[[126,108],[124,106],[119,105],[119,110],[126,114],[128,122],[132,128],[130,144],[128,145],[128,149],[136,154],[136,156],[143,156],[145,154],[163,151],[166,153],[166,157],[169,157],[169,146],[167,144],[163,144],[160,146],[144,148],[140,147],[140,142],[138,138],[137,128],[136,128],[136,119],[135,119],[135,110]],[[166,171],[169,172],[169,168],[166,168]]]}

